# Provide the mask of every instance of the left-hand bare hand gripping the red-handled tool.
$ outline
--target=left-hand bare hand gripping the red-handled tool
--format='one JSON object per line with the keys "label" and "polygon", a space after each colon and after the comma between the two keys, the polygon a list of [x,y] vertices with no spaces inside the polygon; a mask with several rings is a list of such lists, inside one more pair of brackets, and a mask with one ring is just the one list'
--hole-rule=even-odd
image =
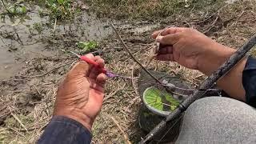
{"label": "left-hand bare hand gripping the red-handled tool", "polygon": [[[104,61],[99,56],[86,54],[101,67]],[[66,116],[82,123],[91,130],[94,118],[102,108],[106,75],[86,62],[78,62],[58,87],[54,115]]]}

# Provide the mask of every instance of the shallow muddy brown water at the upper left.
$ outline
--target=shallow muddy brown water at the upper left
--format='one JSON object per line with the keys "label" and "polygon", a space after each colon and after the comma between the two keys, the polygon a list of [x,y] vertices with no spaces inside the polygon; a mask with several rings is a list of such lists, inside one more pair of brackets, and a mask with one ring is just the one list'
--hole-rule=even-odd
{"label": "shallow muddy brown water at the upper left", "polygon": [[[99,41],[112,33],[106,22],[85,13],[69,22],[50,22],[41,18],[38,6],[23,18],[9,18],[0,22],[0,80],[18,73],[31,58],[51,56],[58,50],[49,50],[46,39],[73,34],[77,41]],[[55,27],[55,28],[54,28]],[[54,31],[54,32],[53,32]]]}

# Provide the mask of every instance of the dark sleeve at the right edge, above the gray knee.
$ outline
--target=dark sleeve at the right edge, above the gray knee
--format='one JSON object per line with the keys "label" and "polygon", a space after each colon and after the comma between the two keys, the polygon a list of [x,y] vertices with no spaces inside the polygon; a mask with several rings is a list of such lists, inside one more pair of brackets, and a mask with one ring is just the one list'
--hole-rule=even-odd
{"label": "dark sleeve at the right edge, above the gray knee", "polygon": [[242,72],[242,85],[246,90],[246,103],[256,107],[256,59],[251,56]]}

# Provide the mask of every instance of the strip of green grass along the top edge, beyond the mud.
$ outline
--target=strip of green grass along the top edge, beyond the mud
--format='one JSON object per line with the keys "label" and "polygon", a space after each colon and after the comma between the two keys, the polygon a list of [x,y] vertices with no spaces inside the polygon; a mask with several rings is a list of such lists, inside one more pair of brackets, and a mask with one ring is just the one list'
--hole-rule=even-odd
{"label": "strip of green grass along the top edge, beyond the mud", "polygon": [[86,0],[90,9],[106,18],[166,18],[179,14],[211,13],[223,6],[223,0]]}

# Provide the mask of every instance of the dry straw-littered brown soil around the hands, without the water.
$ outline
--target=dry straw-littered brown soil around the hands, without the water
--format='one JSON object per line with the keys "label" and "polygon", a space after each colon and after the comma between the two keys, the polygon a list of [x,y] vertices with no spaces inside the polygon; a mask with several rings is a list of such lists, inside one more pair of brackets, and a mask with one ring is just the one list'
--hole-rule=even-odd
{"label": "dry straw-littered brown soil around the hands, without the water", "polygon": [[[256,33],[255,1],[230,3],[227,6],[223,5],[218,11],[202,15],[195,17],[191,13],[172,18],[159,18],[154,22],[130,20],[117,21],[114,24],[118,27],[126,45],[142,64],[146,64],[149,51],[154,45],[150,34],[166,26],[193,27],[217,42],[235,49]],[[110,29],[106,22],[102,23],[99,27]],[[58,26],[59,30],[63,27],[62,24]],[[50,33],[48,37],[42,35],[40,42],[43,43],[42,47],[46,48],[47,54],[37,51],[38,54],[31,58],[12,54],[18,59],[15,59],[15,62],[22,63],[22,69],[10,74],[10,78],[6,77],[0,81],[0,143],[34,143],[50,121],[58,84],[77,62],[76,58],[62,50],[77,50],[75,42],[86,41],[86,38],[94,35],[94,32],[90,31],[94,28],[91,27],[88,28],[90,32],[85,33],[90,35],[82,37],[80,35],[82,30],[69,29],[70,23],[66,23],[66,26],[67,30],[63,29],[63,33],[56,32],[54,35]],[[105,30],[102,28],[102,31]],[[98,49],[102,50],[106,67],[118,74],[136,76],[138,66],[126,51],[122,50],[122,45],[116,35],[112,34],[112,30],[100,38],[102,40]],[[22,49],[18,47],[18,50]],[[13,51],[18,53],[17,50]],[[6,51],[2,55],[5,54]],[[255,54],[254,50],[252,54]],[[174,62],[153,61],[147,68],[166,74],[174,72],[194,87],[198,87],[205,78],[197,70],[188,70]],[[93,143],[126,143],[126,136],[130,142],[136,143],[145,135],[138,129],[137,114],[142,102],[134,83],[136,82],[124,79],[108,80],[102,111],[94,122]]]}

